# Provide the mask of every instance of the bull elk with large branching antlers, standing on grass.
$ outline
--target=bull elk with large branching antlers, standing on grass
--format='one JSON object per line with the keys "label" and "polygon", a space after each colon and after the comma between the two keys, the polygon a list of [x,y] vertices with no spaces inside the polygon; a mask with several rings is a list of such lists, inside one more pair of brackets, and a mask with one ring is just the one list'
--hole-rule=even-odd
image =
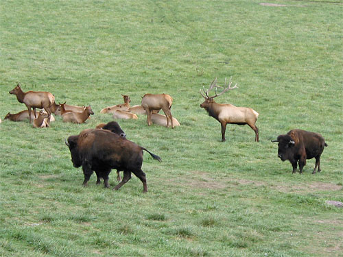
{"label": "bull elk with large branching antlers, standing on grass", "polygon": [[[259,117],[258,112],[252,110],[252,108],[236,107],[232,104],[216,103],[213,100],[215,97],[224,94],[226,91],[237,88],[237,84],[235,84],[235,86],[233,87],[231,87],[231,84],[231,79],[230,82],[227,84],[225,78],[225,86],[217,86],[217,78],[215,78],[208,90],[205,91],[205,89],[203,88],[205,95],[202,95],[200,89],[200,95],[202,95],[202,97],[204,97],[205,99],[205,101],[200,104],[200,107],[204,108],[209,113],[209,116],[215,118],[222,125],[222,142],[225,141],[225,130],[226,124],[228,123],[237,125],[249,125],[249,127],[251,127],[252,130],[254,130],[255,132],[255,141],[259,142],[259,129],[255,125],[257,117]],[[213,88],[215,88],[215,95],[213,97],[209,97],[209,91],[211,91]],[[222,92],[217,94],[217,88],[224,89],[222,90]]]}

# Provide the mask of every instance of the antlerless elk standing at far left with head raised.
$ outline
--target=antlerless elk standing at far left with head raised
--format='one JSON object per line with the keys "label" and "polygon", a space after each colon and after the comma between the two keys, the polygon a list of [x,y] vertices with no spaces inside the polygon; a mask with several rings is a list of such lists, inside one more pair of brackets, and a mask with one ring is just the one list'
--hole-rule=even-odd
{"label": "antlerless elk standing at far left with head raised", "polygon": [[10,90],[10,94],[16,95],[16,99],[18,99],[19,103],[25,103],[27,110],[29,110],[29,123],[31,123],[31,108],[34,109],[34,117],[37,117],[36,108],[44,108],[48,114],[48,123],[50,122],[50,106],[55,101],[54,95],[49,92],[41,91],[27,91],[24,93],[23,90],[21,90],[20,84],[17,84],[15,88]]}

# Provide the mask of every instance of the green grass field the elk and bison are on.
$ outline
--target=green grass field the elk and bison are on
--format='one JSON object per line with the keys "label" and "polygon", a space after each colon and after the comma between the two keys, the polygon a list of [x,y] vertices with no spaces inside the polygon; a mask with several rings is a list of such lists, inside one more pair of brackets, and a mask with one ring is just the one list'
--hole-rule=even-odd
{"label": "green grass field the elk and bison are on", "polygon": [[[277,3],[287,6],[268,6]],[[343,256],[343,2],[1,1],[0,117],[25,106],[8,92],[49,91],[91,105],[81,125],[0,124],[0,256]],[[219,103],[259,112],[248,126],[200,108],[202,86],[233,77]],[[144,154],[149,192],[82,187],[64,138],[145,93],[174,98],[174,130],[119,121]],[[319,132],[322,172],[292,175],[279,134]],[[110,174],[111,187],[117,184]]]}

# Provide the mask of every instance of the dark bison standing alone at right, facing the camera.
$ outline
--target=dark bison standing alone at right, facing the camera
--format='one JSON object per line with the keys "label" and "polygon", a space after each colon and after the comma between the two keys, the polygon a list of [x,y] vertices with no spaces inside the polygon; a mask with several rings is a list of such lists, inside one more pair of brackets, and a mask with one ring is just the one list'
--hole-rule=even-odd
{"label": "dark bison standing alone at right, facing the camera", "polygon": [[289,160],[293,166],[293,173],[299,161],[300,173],[306,164],[306,159],[316,158],[316,165],[312,173],[320,172],[320,156],[324,147],[327,147],[322,135],[305,130],[290,130],[285,135],[280,135],[272,142],[279,142],[278,156],[282,161]]}

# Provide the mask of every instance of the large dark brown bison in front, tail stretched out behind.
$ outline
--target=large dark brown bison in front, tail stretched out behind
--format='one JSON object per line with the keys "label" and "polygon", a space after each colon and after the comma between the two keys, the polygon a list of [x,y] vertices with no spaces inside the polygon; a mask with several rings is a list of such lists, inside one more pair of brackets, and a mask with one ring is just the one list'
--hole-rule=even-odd
{"label": "large dark brown bison in front, tail stretched out behind", "polygon": [[161,158],[126,138],[123,138],[108,130],[83,130],[77,136],[69,136],[66,145],[71,152],[71,161],[74,167],[82,167],[84,172],[83,186],[87,185],[93,171],[109,187],[108,175],[111,169],[123,171],[123,180],[115,186],[118,190],[128,182],[131,173],[137,176],[143,183],[143,192],[147,192],[145,173],[141,170],[143,163],[143,150],[147,151],[152,158]]}

